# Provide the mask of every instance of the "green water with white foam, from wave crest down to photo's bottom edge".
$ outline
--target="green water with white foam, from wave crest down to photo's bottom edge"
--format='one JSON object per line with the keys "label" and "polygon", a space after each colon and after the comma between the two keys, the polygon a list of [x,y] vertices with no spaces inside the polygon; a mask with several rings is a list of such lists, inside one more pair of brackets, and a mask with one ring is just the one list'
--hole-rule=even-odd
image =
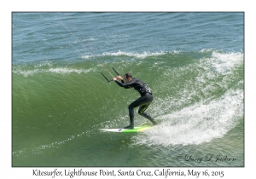
{"label": "green water with white foam, from wave crest down to photo's bottom edge", "polygon": [[[14,166],[243,166],[241,53],[101,58],[109,57],[109,70],[113,66],[147,82],[154,94],[147,111],[160,124],[136,134],[99,130],[128,124],[128,106],[139,94],[108,83],[98,63],[15,65]],[[136,113],[136,125],[146,120]],[[218,155],[235,160],[214,162]]]}

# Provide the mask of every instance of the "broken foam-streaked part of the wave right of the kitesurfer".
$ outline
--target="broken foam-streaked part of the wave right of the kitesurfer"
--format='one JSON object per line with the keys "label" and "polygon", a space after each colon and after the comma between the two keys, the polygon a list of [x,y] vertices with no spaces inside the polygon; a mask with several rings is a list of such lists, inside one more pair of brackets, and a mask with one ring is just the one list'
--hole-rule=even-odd
{"label": "broken foam-streaked part of the wave right of the kitesurfer", "polygon": [[222,138],[243,119],[242,53],[213,51],[198,62],[167,69],[162,78],[158,92],[166,93],[154,100],[152,110],[160,124],[134,137],[135,145],[199,145]]}

